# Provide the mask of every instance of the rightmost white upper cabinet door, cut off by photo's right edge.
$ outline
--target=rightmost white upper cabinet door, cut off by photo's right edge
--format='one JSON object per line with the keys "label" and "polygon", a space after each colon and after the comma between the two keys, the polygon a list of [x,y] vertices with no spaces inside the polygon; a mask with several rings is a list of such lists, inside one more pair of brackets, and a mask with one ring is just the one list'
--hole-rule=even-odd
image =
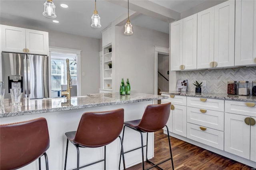
{"label": "rightmost white upper cabinet door, cut off by photo's right edge", "polygon": [[236,0],[235,65],[256,64],[256,1]]}

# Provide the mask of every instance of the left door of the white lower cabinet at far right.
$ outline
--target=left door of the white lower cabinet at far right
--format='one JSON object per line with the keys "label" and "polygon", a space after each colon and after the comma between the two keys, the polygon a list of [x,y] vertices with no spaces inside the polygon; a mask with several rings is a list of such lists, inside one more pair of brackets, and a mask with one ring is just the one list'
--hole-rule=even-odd
{"label": "left door of the white lower cabinet at far right", "polygon": [[244,122],[246,117],[225,113],[224,150],[250,159],[250,125]]}

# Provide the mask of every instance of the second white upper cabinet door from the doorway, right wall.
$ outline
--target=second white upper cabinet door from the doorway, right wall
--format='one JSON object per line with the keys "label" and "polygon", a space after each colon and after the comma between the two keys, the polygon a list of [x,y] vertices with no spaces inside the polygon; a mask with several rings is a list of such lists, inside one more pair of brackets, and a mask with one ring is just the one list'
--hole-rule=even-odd
{"label": "second white upper cabinet door from the doorway, right wall", "polygon": [[184,70],[196,69],[197,14],[183,19],[182,64]]}

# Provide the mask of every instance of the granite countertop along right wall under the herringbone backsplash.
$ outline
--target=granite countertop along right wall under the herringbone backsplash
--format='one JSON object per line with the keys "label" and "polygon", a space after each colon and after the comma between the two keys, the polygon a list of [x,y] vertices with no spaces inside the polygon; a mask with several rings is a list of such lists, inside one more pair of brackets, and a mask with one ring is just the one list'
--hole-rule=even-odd
{"label": "granite countertop along right wall under the herringbone backsplash", "polygon": [[174,94],[180,96],[200,97],[200,98],[213,98],[224,100],[236,100],[243,102],[256,102],[256,96],[240,96],[231,94],[219,94],[219,93],[195,93],[195,92],[160,92],[160,94]]}

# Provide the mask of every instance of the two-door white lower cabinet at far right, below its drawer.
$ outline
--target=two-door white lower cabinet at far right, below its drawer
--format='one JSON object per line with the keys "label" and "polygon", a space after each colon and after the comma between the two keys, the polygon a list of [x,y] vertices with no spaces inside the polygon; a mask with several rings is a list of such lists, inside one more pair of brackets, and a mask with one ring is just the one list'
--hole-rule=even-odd
{"label": "two-door white lower cabinet at far right, below its drawer", "polygon": [[256,117],[225,113],[224,150],[256,162]]}

